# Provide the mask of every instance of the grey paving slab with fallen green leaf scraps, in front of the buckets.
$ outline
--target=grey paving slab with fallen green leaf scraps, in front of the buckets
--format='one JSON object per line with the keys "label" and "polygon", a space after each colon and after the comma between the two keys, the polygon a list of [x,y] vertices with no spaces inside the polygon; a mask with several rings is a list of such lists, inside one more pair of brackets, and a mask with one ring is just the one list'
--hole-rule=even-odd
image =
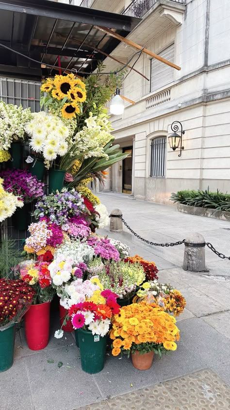
{"label": "grey paving slab with fallen green leaf scraps, in front of the buckets", "polygon": [[[43,351],[24,359],[35,410],[73,410],[103,399],[93,376],[82,371],[76,346]],[[48,363],[48,359],[54,363]],[[63,363],[61,368],[59,362]]]}

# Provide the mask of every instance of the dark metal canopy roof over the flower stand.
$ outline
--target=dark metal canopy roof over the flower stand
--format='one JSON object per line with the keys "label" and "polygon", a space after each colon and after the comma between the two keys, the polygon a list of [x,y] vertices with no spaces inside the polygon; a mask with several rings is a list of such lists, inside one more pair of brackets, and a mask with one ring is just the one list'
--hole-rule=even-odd
{"label": "dark metal canopy roof over the flower stand", "polygon": [[41,64],[0,47],[0,74],[40,79],[67,70],[92,72],[119,40],[95,26],[126,37],[139,18],[48,0],[0,1],[0,43]]}

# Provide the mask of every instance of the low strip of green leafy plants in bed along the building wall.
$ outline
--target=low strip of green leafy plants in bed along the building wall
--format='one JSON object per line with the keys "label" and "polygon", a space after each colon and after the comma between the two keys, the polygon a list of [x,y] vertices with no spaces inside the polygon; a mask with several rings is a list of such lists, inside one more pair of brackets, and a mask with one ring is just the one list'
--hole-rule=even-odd
{"label": "low strip of green leafy plants in bed along the building wall", "polygon": [[230,194],[223,194],[218,189],[216,192],[210,192],[209,187],[205,191],[178,191],[172,193],[170,199],[174,203],[230,212]]}

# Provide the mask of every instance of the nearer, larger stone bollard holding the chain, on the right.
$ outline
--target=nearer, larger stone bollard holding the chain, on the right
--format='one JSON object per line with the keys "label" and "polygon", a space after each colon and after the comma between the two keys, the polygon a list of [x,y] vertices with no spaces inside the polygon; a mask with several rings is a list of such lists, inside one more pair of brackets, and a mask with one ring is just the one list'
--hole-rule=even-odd
{"label": "nearer, larger stone bollard holding the chain, on the right", "polygon": [[205,239],[199,233],[192,233],[185,239],[183,269],[191,272],[207,271],[205,267]]}

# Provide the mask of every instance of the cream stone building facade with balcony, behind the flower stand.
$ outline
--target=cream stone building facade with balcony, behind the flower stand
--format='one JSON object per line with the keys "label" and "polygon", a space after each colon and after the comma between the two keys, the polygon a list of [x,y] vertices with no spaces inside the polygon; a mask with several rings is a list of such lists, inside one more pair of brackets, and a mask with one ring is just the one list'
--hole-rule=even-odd
{"label": "cream stone building facade with balcony, behind the flower stand", "polygon": [[[122,115],[111,116],[115,142],[129,156],[113,165],[104,189],[168,204],[171,193],[182,189],[230,192],[229,1],[129,3],[83,0],[82,6],[142,17],[128,38],[181,70],[141,54],[134,68],[149,81],[131,70],[122,94],[135,105],[126,103]],[[135,51],[120,43],[112,55],[125,63]],[[105,63],[106,71],[115,71],[114,60]],[[174,121],[185,131],[181,157],[168,141]]]}

